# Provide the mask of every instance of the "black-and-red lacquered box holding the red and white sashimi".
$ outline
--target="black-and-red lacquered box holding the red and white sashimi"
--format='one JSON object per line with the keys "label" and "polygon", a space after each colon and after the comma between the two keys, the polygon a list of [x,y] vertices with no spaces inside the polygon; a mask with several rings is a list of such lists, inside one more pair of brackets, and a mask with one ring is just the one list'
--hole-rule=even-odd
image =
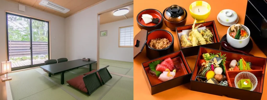
{"label": "black-and-red lacquered box holding the red and white sashimi", "polygon": [[[164,60],[166,58],[170,57],[172,61],[174,62],[174,65],[180,66],[179,71],[176,71],[176,74],[173,79],[168,80],[168,81],[161,81],[158,79],[157,76],[151,76],[150,75],[150,67],[149,64],[152,61],[156,60]],[[151,95],[171,89],[173,87],[186,84],[190,82],[190,78],[192,75],[192,71],[183,55],[182,51],[177,51],[147,62],[142,63],[142,73],[144,75],[144,78],[146,80],[147,86],[150,90]]]}

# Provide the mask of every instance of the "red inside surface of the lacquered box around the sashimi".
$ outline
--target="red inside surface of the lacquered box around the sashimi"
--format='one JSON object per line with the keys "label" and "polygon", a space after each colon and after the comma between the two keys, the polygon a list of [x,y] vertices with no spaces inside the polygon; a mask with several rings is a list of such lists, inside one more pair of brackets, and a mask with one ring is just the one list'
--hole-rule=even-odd
{"label": "red inside surface of the lacquered box around the sashimi", "polygon": [[[174,79],[188,74],[181,57],[175,57],[172,59],[172,61],[173,61],[174,65],[180,66],[180,69],[177,70],[175,73]],[[146,67],[145,71],[146,71],[146,74],[147,74],[148,80],[150,81],[151,86],[155,86],[157,84],[163,83],[163,81],[158,79],[159,78],[158,76],[152,76],[150,74],[150,68],[149,67]]]}

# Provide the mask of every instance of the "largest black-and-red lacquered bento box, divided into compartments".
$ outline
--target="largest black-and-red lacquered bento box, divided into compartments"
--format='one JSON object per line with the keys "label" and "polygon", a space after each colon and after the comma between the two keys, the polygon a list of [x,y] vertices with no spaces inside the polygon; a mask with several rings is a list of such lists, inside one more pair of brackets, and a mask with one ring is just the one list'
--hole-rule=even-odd
{"label": "largest black-and-red lacquered bento box, divided into compartments", "polygon": [[[226,54],[226,61],[225,61],[225,69],[226,69],[226,79],[228,82],[228,86],[223,86],[219,84],[212,84],[212,83],[206,83],[206,82],[200,82],[196,80],[197,73],[199,72],[200,68],[198,67],[198,62],[200,59],[203,59],[202,56],[204,53],[220,53]],[[246,59],[246,61],[252,63],[252,70],[235,70],[235,71],[229,71],[228,69],[229,64],[232,60],[238,60],[240,58]],[[193,75],[191,77],[191,90],[208,93],[208,94],[214,94],[219,96],[227,96],[229,98],[235,98],[235,99],[249,99],[249,100],[260,100],[262,96],[263,91],[263,82],[264,82],[264,75],[265,75],[265,68],[266,68],[266,58],[262,57],[255,57],[255,56],[247,56],[242,55],[238,53],[231,53],[216,49],[210,49],[205,47],[200,47],[198,52],[198,57],[196,64],[194,66]],[[255,90],[243,90],[239,88],[235,88],[235,76],[239,74],[240,72],[250,72],[257,78],[257,86]]]}

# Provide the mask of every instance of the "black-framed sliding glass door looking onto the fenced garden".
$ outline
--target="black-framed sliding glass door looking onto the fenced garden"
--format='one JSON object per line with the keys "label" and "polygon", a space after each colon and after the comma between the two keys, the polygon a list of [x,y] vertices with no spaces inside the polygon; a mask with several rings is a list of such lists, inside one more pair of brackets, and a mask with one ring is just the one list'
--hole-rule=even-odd
{"label": "black-framed sliding glass door looking onto the fenced garden", "polygon": [[12,70],[42,66],[49,59],[49,22],[6,13],[6,31]]}

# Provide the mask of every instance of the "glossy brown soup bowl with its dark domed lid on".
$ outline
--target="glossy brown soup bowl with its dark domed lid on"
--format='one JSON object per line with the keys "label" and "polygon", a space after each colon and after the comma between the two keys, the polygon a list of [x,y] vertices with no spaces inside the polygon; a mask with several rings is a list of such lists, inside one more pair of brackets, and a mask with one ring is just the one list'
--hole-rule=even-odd
{"label": "glossy brown soup bowl with its dark domed lid on", "polygon": [[163,11],[163,21],[172,31],[175,31],[175,28],[178,26],[184,26],[186,20],[187,11],[181,6],[172,5]]}

